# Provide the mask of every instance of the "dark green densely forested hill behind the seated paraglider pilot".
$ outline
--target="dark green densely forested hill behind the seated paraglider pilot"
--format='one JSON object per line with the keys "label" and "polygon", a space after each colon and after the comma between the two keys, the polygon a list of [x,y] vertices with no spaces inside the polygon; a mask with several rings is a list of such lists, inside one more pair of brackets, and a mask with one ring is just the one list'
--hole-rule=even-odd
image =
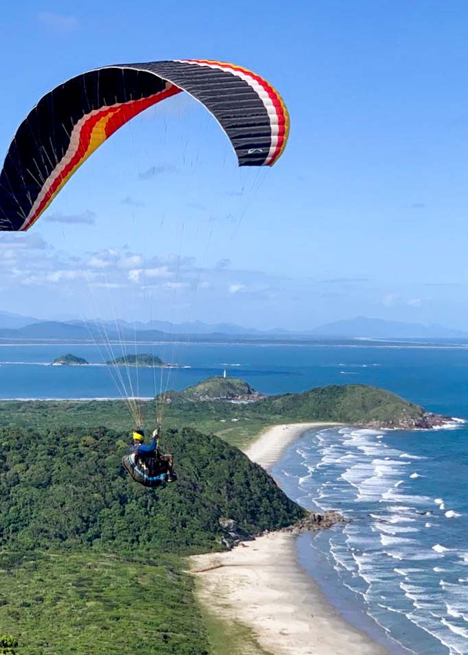
{"label": "dark green densely forested hill behind the seated paraglider pilot", "polygon": [[169,430],[178,482],[155,492],[121,466],[128,433],[0,433],[0,549],[197,553],[222,547],[220,519],[247,533],[303,510],[259,466],[217,437]]}

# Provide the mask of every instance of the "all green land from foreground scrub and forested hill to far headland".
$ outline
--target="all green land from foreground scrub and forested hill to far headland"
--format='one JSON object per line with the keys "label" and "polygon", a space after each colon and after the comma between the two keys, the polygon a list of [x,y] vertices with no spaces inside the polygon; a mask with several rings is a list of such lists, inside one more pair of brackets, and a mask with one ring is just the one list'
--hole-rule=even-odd
{"label": "all green land from foreground scrub and forested hill to far headland", "polygon": [[[244,626],[203,614],[183,573],[183,555],[223,548],[222,518],[257,533],[303,516],[225,441],[275,423],[423,415],[362,385],[244,404],[220,392],[255,397],[233,378],[169,394],[163,448],[179,479],[157,492],[121,467],[133,427],[123,401],[0,402],[0,655],[265,655]],[[156,402],[142,410],[153,428]]]}

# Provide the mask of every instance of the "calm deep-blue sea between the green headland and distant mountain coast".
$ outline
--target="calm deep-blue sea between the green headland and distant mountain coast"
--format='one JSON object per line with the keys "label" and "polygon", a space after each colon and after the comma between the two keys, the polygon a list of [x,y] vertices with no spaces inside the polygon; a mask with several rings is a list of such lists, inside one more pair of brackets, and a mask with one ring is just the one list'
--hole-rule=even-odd
{"label": "calm deep-blue sea between the green headland and distant mountain coast", "polygon": [[[0,398],[119,398],[106,360],[134,354],[133,345],[0,343]],[[246,345],[155,343],[138,345],[165,362],[189,368],[132,371],[132,390],[150,397],[163,385],[183,389],[210,375],[241,376],[264,393],[305,391],[324,384],[373,384],[428,407],[468,417],[468,345]],[[62,354],[85,358],[90,367],[51,367]],[[126,378],[124,378],[126,381]],[[130,391],[130,387],[127,389]]]}

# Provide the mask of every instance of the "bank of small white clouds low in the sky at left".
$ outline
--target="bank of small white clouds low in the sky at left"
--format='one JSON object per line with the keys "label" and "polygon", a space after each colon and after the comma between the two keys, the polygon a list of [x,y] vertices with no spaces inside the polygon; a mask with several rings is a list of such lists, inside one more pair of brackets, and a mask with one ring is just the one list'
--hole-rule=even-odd
{"label": "bank of small white clouds low in the sky at left", "polygon": [[[240,299],[242,295],[246,303],[266,299],[264,288],[268,276],[235,270],[229,267],[227,260],[200,266],[195,257],[175,254],[146,257],[128,246],[68,253],[51,249],[37,235],[31,241],[31,236],[21,235],[18,246],[19,240],[7,235],[3,248],[0,246],[3,299],[6,288],[11,297],[16,294],[22,301],[27,299],[31,307],[64,301],[67,310],[74,314],[86,311],[90,315],[112,316],[128,311],[148,314],[148,303],[165,312],[167,297],[173,296],[177,299],[174,311],[181,312],[181,320],[196,287],[202,299],[196,304],[197,308],[212,302],[222,303],[226,296]],[[25,251],[25,247],[30,249]],[[227,290],[238,295],[229,295]],[[73,297],[75,301],[71,301]]]}

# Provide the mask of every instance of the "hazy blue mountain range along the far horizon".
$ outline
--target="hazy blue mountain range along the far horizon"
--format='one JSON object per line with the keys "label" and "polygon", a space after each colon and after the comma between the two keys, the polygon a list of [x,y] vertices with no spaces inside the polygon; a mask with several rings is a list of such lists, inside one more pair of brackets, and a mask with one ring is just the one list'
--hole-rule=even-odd
{"label": "hazy blue mountain range along the far horizon", "polygon": [[468,332],[445,328],[443,325],[422,325],[356,317],[318,325],[311,330],[293,332],[274,328],[257,330],[235,323],[189,323],[172,324],[168,321],[152,323],[129,323],[128,321],[44,321],[10,312],[0,312],[0,339],[14,341],[58,340],[58,341],[164,341],[169,336],[176,338],[196,337],[203,340],[307,340],[337,338],[468,338]]}

